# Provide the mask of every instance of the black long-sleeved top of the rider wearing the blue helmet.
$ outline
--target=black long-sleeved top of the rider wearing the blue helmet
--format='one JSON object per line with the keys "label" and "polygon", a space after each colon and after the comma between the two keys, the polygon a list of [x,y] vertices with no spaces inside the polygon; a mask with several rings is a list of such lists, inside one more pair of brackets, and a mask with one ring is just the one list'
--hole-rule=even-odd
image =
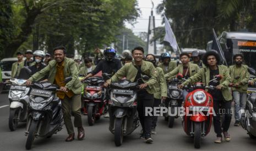
{"label": "black long-sleeved top of the rider wearing the blue helmet", "polygon": [[102,71],[102,73],[113,74],[116,73],[121,67],[121,61],[118,59],[114,58],[112,61],[101,60],[91,74],[94,75],[100,71]]}

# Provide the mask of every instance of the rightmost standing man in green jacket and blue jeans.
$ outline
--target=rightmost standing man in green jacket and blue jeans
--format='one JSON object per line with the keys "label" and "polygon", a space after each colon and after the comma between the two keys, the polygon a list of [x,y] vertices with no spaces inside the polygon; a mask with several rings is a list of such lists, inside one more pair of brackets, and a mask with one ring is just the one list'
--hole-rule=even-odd
{"label": "rightmost standing man in green jacket and blue jeans", "polygon": [[228,68],[231,85],[233,92],[233,100],[235,102],[235,124],[234,126],[240,125],[239,110],[246,107],[246,96],[249,80],[248,66],[242,65],[243,55],[236,54],[233,56],[233,61],[236,63]]}

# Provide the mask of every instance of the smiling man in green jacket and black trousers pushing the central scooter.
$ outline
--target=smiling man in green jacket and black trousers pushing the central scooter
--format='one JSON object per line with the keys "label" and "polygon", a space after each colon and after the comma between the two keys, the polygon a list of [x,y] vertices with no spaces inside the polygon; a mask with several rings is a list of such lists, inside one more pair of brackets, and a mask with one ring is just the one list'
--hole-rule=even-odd
{"label": "smiling man in green jacket and black trousers pushing the central scooter", "polygon": [[154,105],[154,93],[156,92],[154,85],[157,82],[157,71],[151,62],[143,60],[143,54],[144,49],[142,47],[135,47],[132,50],[134,62],[126,63],[104,85],[108,86],[111,82],[117,82],[124,77],[132,82],[137,82],[141,75],[148,75],[150,77],[148,81],[138,80],[141,90],[137,93],[137,110],[143,129],[140,138],[145,138],[146,143],[152,143],[153,140],[150,136],[152,121],[151,117],[146,115],[145,108],[153,107]]}

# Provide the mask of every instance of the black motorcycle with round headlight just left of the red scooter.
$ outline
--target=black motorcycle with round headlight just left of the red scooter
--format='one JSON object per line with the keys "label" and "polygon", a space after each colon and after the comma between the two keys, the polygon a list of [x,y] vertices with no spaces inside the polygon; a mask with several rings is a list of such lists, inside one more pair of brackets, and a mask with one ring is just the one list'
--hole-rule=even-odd
{"label": "black motorcycle with round headlight just left of the red scooter", "polygon": [[[177,113],[177,107],[181,107],[182,105],[182,93],[183,91],[181,89],[178,89],[179,80],[178,79],[172,79],[168,82],[167,85],[167,101],[166,106],[168,107],[168,113],[171,113],[169,115],[168,113],[165,115],[165,118],[168,120],[168,127],[173,127],[175,118],[178,118]],[[176,108],[176,112],[175,112]],[[175,115],[176,114],[176,115]]]}

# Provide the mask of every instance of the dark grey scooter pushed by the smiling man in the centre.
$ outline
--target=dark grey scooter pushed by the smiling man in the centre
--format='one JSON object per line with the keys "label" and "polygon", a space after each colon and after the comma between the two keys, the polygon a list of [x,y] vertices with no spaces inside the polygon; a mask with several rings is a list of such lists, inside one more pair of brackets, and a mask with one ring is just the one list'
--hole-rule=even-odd
{"label": "dark grey scooter pushed by the smiling man in the centre", "polygon": [[[143,75],[144,80],[149,77]],[[141,80],[141,79],[139,79]],[[122,79],[110,85],[109,130],[115,135],[116,146],[121,146],[123,136],[132,133],[139,126],[137,111],[138,82]]]}

